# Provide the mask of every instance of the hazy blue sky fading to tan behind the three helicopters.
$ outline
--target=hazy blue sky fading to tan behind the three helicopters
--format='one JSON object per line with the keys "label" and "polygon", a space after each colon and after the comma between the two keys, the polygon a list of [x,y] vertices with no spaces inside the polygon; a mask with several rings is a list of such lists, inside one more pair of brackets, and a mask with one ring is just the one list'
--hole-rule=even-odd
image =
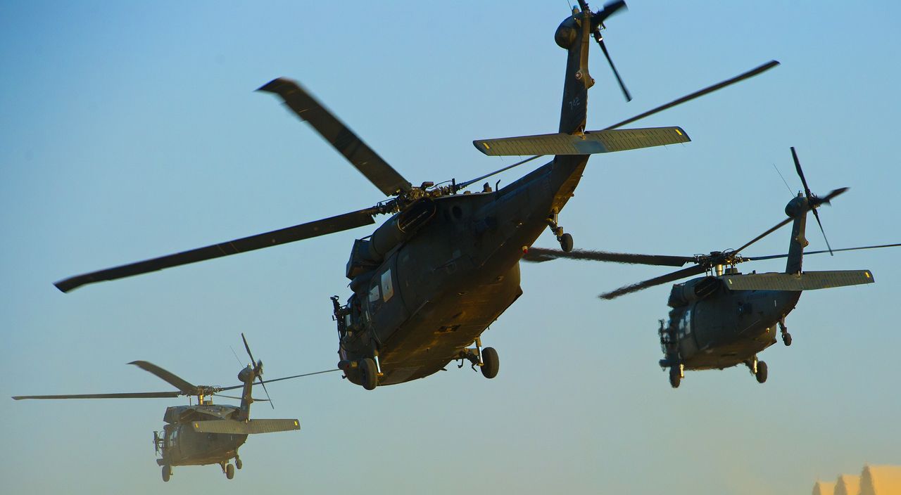
{"label": "hazy blue sky fading to tan behind the three helicopters", "polygon": [[[595,5],[596,7],[599,4]],[[592,47],[588,127],[600,129],[771,58],[769,73],[634,126],[693,142],[592,157],[560,214],[577,247],[691,255],[738,247],[784,216],[773,165],[799,187],[796,146],[833,247],[901,241],[896,3],[630,2]],[[278,99],[295,78],[411,182],[512,163],[472,139],[552,132],[563,1],[0,3],[0,396],[237,383],[240,333],[268,377],[329,369],[328,297],[349,295],[357,229],[59,293],[68,275],[368,207],[383,199]],[[539,162],[535,162],[537,166]],[[534,168],[500,175],[501,184]],[[530,168],[531,167],[531,168]],[[815,226],[812,249],[824,248]],[[747,255],[784,252],[780,230]],[[549,233],[536,246],[554,247]],[[231,482],[177,468],[163,486],[151,431],[181,400],[0,401],[5,492],[457,494],[460,491],[807,493],[817,478],[901,464],[898,251],[805,260],[876,284],[805,293],[792,347],[742,368],[657,360],[668,286],[596,294],[654,267],[523,266],[523,296],[483,336],[492,381],[469,367],[366,392],[338,374],[269,387],[303,429],[251,437]],[[742,266],[781,270],[784,262]],[[242,356],[241,359],[244,359]]]}

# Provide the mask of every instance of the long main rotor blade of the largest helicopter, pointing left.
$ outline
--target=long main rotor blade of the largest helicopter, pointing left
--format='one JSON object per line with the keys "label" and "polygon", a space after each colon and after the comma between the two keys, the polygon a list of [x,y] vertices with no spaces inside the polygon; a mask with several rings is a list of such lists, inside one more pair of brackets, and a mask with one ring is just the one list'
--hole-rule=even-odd
{"label": "long main rotor blade of the largest helicopter, pointing left", "polygon": [[314,238],[341,232],[341,230],[355,229],[364,225],[371,225],[376,222],[372,215],[378,212],[374,208],[344,213],[343,215],[334,216],[332,218],[315,220],[287,229],[272,230],[263,234],[257,234],[246,238],[239,238],[223,242],[222,244],[214,244],[207,247],[198,247],[188,251],[182,251],[173,255],[164,257],[155,257],[145,261],[139,261],[129,265],[115,266],[98,270],[84,275],[76,275],[55,283],[56,287],[68,293],[73,289],[86,284],[94,284],[107,280],[117,280],[133,275],[147,274],[156,272],[164,268],[172,266],[188,265],[198,261],[205,261],[216,257],[225,257],[261,249],[263,247],[278,246],[288,242],[295,242],[305,238]]}

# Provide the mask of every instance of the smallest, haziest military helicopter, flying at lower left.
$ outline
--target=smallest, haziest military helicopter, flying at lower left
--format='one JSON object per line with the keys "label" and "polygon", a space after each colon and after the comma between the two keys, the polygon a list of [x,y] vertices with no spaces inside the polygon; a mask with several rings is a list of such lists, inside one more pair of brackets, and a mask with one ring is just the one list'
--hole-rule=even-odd
{"label": "smallest, haziest military helicopter, flying at lower left", "polygon": [[[244,347],[250,355],[253,363],[253,355],[250,354],[250,346],[247,339],[241,334]],[[290,431],[300,429],[297,419],[250,419],[250,404],[255,401],[272,401],[268,399],[253,399],[250,392],[254,381],[266,390],[266,383],[279,382],[309,376],[312,374],[329,373],[317,372],[312,374],[297,374],[275,380],[263,381],[263,362],[256,361],[254,365],[247,365],[238,374],[241,385],[232,387],[214,387],[209,385],[194,385],[183,378],[172,374],[158,365],[147,361],[132,361],[129,365],[135,365],[142,370],[155,374],[167,383],[171,383],[178,390],[173,392],[126,392],[126,393],[88,393],[68,395],[18,395],[15,401],[23,399],[155,399],[178,397],[179,395],[194,396],[196,405],[172,406],[166,408],[163,420],[166,425],[163,431],[153,432],[153,447],[160,456],[157,464],[162,466],[163,481],[168,482],[172,476],[174,466],[219,464],[225,477],[234,478],[234,469],[241,469],[241,457],[238,456],[238,447],[244,445],[248,435],[258,433],[274,433],[277,431]],[[338,370],[330,370],[338,371]],[[241,397],[222,395],[219,392],[241,389]],[[214,404],[212,397],[218,395],[230,399],[241,399],[241,406]],[[232,465],[229,461],[234,459]]]}

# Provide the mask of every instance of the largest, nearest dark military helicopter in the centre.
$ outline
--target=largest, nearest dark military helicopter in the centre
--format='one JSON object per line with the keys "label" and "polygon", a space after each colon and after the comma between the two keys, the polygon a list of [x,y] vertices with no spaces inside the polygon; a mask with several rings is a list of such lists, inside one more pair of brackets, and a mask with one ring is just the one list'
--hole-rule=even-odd
{"label": "largest, nearest dark military helicopter in the centre", "polygon": [[[605,20],[624,7],[624,2],[616,1],[592,12],[579,1],[557,28],[554,40],[568,52],[557,133],[473,141],[488,156],[532,157],[463,183],[452,179],[414,186],[302,86],[278,78],[259,91],[277,94],[389,199],[323,220],[73,276],[55,285],[65,293],[84,284],[355,229],[375,223],[376,215],[390,214],[371,235],[353,243],[345,272],[350,298],[341,304],[338,296],[332,297],[339,367],[351,383],[367,390],[429,376],[453,360],[460,360],[460,365],[469,361],[484,376],[494,378],[497,352],[483,349],[480,336],[522,294],[523,247],[550,228],[563,250],[572,249],[572,236],[560,227],[558,214],[573,195],[588,157],[688,142],[678,127],[619,128],[778,65],[770,61],[604,130],[585,130],[587,90],[595,83],[587,65],[592,38],[613,67],[623,94],[631,98],[601,35]],[[546,155],[554,155],[553,160],[502,189],[493,191],[486,183],[481,192],[462,192]]]}

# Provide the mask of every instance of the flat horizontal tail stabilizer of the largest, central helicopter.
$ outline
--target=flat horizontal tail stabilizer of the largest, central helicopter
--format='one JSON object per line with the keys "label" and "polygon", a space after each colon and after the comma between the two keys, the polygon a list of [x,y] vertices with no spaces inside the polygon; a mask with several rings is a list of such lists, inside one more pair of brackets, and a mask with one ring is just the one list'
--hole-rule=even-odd
{"label": "flat horizontal tail stabilizer of the largest, central helicopter", "polygon": [[539,134],[518,138],[479,139],[472,141],[489,157],[528,155],[591,155],[625,149],[651,148],[688,142],[691,139],[680,127],[647,129],[587,130],[585,134]]}

